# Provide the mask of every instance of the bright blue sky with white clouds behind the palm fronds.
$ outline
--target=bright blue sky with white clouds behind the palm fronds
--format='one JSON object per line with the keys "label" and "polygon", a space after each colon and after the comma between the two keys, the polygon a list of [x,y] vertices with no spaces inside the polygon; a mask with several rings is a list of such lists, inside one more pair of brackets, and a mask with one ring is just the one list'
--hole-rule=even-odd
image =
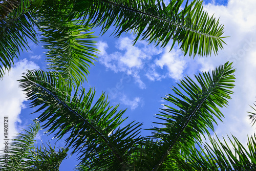
{"label": "bright blue sky with white clouds behind the palm fronds", "polygon": [[[189,58],[183,56],[178,46],[169,52],[168,46],[164,49],[154,48],[145,41],[138,41],[132,45],[133,35],[122,35],[119,39],[110,36],[111,30],[98,37],[97,46],[101,51],[98,62],[92,66],[86,88],[96,88],[96,97],[102,92],[109,94],[111,105],[120,103],[119,109],[126,109],[123,117],[129,116],[126,123],[132,120],[143,122],[143,129],[151,128],[161,104],[167,104],[161,99],[172,93],[170,87],[175,82],[188,75],[192,77],[201,71],[210,71],[226,61],[233,61],[236,88],[229,102],[228,108],[222,109],[225,119],[216,126],[216,134],[221,137],[232,133],[243,144],[246,144],[247,135],[253,135],[255,127],[249,125],[247,111],[252,111],[256,96],[256,2],[248,0],[246,3],[239,0],[232,1],[205,1],[204,8],[209,14],[220,17],[220,23],[225,26],[225,35],[230,36],[225,41],[227,45],[218,56]],[[114,29],[114,28],[111,28]],[[95,34],[98,34],[96,30]],[[17,87],[19,75],[25,69],[45,69],[43,51],[40,46],[31,44],[31,51],[25,52],[16,62],[10,74],[6,74],[0,81],[0,115],[9,116],[10,135],[15,135],[21,128],[26,128],[38,114],[29,115],[34,109],[28,108],[28,101]],[[2,116],[3,115],[3,116]],[[46,131],[46,130],[45,130]],[[43,135],[42,130],[37,140],[48,141],[53,135]],[[150,132],[142,131],[143,135]],[[212,135],[214,136],[214,135]],[[3,133],[0,133],[3,137]],[[2,140],[2,138],[0,138]],[[207,141],[207,140],[206,140]],[[0,141],[0,147],[3,143]],[[50,141],[54,143],[53,140]],[[59,141],[57,146],[62,146]],[[72,170],[75,156],[66,159],[60,170]]]}

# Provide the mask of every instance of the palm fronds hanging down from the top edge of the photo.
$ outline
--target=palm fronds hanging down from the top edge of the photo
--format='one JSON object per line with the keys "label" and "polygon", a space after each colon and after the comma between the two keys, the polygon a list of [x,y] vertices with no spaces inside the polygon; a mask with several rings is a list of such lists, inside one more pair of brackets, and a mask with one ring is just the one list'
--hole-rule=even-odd
{"label": "palm fronds hanging down from the top edge of the photo", "polygon": [[[1,4],[1,9],[7,8],[7,4]],[[49,69],[72,77],[73,84],[86,79],[96,57],[90,31],[95,27],[101,27],[104,34],[114,26],[116,37],[132,31],[134,42],[145,39],[161,47],[173,41],[172,48],[178,43],[184,55],[194,57],[217,54],[224,43],[223,26],[214,16],[208,16],[198,0],[190,4],[172,0],[167,6],[161,0],[26,0],[13,12],[2,11],[0,77],[14,64],[20,49],[26,50],[27,39],[38,42],[33,26],[40,31],[41,42],[48,50]]]}

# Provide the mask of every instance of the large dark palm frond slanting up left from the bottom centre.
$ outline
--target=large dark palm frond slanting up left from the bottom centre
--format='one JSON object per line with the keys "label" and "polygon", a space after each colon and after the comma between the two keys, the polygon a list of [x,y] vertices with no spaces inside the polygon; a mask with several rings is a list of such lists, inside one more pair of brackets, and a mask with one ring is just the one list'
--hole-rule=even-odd
{"label": "large dark palm frond slanting up left from the bottom centre", "polygon": [[118,105],[110,107],[104,94],[94,103],[92,89],[72,92],[63,79],[61,74],[28,71],[19,80],[31,105],[40,106],[36,112],[42,112],[38,117],[45,122],[42,128],[54,132],[56,138],[68,135],[66,142],[72,154],[78,152],[78,159],[90,169],[118,170],[125,166],[140,139],[141,124],[120,127],[125,119],[121,118],[124,111],[117,111]]}

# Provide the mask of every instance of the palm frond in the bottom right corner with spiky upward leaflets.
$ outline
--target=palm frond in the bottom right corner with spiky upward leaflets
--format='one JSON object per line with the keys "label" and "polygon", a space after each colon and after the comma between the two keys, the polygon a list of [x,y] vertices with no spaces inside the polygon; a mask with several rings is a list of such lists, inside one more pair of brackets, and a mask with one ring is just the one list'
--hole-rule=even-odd
{"label": "palm frond in the bottom right corner with spiky upward leaflets", "polygon": [[[210,143],[191,148],[187,161],[195,170],[255,170],[256,137],[248,137],[247,146],[234,136],[224,142],[209,137]],[[232,144],[231,146],[229,144]]]}

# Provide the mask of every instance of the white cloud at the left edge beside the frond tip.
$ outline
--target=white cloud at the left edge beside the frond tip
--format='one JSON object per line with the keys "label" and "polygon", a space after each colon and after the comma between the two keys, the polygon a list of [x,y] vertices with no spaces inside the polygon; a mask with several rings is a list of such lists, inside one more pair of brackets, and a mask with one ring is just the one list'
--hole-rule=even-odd
{"label": "white cloud at the left edge beside the frond tip", "polygon": [[[19,119],[19,114],[22,108],[25,108],[23,102],[25,101],[25,94],[18,87],[16,80],[20,79],[20,75],[26,69],[38,69],[39,67],[27,59],[19,61],[15,67],[11,69],[10,73],[6,73],[3,80],[0,81],[0,125],[4,125],[4,117],[8,117],[8,138],[12,138],[18,133],[15,128],[15,122],[22,122]],[[2,127],[3,129],[3,127]],[[0,131],[0,148],[4,147],[4,130]]]}

